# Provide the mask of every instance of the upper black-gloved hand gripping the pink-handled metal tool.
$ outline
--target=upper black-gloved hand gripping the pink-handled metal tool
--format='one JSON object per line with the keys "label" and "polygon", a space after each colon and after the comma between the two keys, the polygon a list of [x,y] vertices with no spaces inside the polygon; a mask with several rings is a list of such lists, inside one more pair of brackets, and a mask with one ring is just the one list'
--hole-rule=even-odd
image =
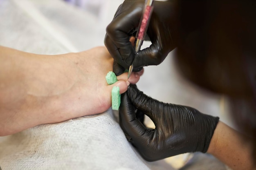
{"label": "upper black-gloved hand gripping the pink-handled metal tool", "polygon": [[140,71],[142,66],[158,65],[176,46],[177,17],[174,5],[171,1],[155,1],[146,34],[152,44],[135,55],[134,47],[129,40],[138,29],[144,2],[125,0],[107,26],[104,43],[114,58],[113,71],[116,75],[123,73],[132,63],[133,71]]}

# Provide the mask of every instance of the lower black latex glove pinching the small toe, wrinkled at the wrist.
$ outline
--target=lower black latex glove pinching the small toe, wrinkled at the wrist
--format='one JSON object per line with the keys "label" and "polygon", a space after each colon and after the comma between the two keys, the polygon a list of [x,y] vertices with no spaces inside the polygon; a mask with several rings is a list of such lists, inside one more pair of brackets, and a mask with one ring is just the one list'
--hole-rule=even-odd
{"label": "lower black latex glove pinching the small toe, wrinkled at the wrist", "polygon": [[[138,111],[148,115],[156,128],[146,128],[136,118]],[[130,85],[121,95],[119,119],[128,141],[147,161],[186,152],[207,152],[219,120],[191,107],[159,102],[143,94],[136,85]]]}

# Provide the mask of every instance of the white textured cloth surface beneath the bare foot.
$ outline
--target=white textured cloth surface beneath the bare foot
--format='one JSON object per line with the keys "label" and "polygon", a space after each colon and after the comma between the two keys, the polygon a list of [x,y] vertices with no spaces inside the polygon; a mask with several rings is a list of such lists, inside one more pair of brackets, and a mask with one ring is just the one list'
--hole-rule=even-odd
{"label": "white textured cloth surface beneath the bare foot", "polygon": [[111,109],[39,125],[6,137],[0,145],[2,170],[150,170],[157,164],[136,154]]}

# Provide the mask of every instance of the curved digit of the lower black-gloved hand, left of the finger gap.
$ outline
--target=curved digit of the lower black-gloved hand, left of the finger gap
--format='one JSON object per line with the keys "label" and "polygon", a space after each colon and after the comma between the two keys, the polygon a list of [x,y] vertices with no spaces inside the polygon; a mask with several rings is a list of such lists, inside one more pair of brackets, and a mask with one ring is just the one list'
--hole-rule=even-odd
{"label": "curved digit of the lower black-gloved hand, left of the finger gap", "polygon": [[119,117],[121,126],[133,139],[139,140],[144,137],[146,127],[136,118],[136,108],[130,101],[127,92],[121,95],[121,105],[119,107]]}

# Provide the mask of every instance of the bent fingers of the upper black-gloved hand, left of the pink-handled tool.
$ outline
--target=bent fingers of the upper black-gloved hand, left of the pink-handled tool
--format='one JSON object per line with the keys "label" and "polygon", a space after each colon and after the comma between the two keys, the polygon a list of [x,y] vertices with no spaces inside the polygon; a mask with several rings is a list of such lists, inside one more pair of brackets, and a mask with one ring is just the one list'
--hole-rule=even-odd
{"label": "bent fingers of the upper black-gloved hand, left of the pink-handled tool", "polygon": [[132,5],[116,16],[106,29],[105,45],[112,57],[126,69],[134,59],[135,51],[130,36],[139,25],[142,10],[143,5]]}

